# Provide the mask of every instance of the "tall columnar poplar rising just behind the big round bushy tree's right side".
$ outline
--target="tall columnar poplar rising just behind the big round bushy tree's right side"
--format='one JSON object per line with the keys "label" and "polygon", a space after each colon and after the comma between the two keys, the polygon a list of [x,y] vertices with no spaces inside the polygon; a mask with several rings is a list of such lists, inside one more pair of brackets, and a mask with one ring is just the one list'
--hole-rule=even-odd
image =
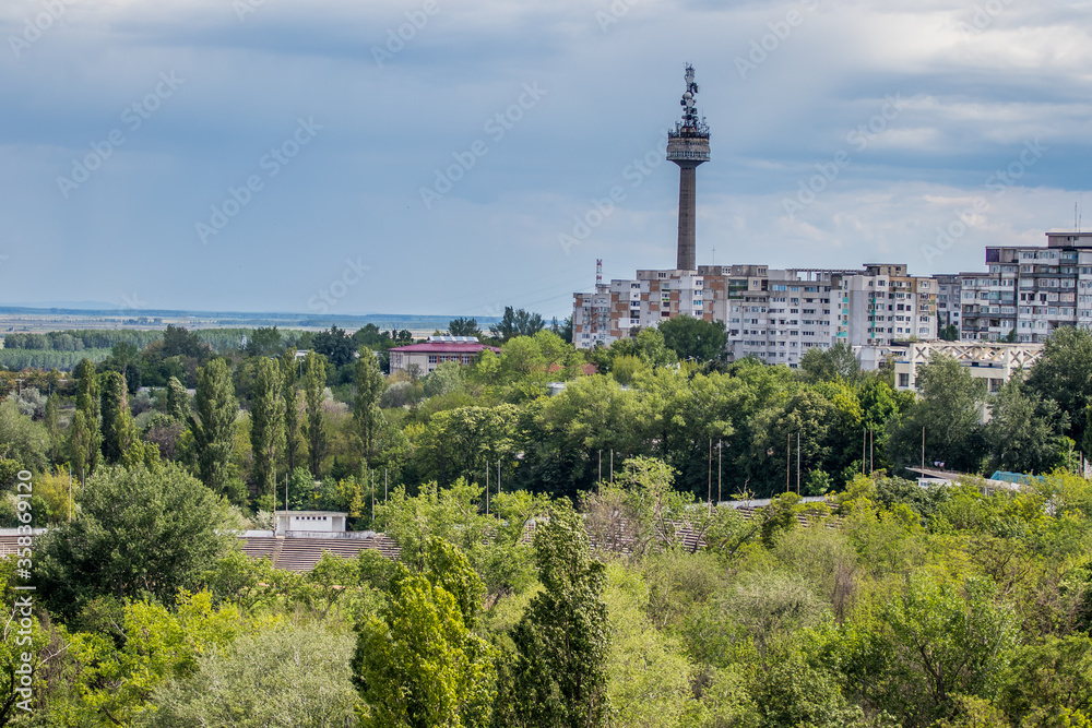
{"label": "tall columnar poplar rising just behind the big round bushy tree's right side", "polygon": [[213,359],[198,373],[197,417],[190,428],[198,452],[201,480],[216,493],[224,493],[232,475],[232,446],[239,404],[235,398],[232,371],[224,359]]}

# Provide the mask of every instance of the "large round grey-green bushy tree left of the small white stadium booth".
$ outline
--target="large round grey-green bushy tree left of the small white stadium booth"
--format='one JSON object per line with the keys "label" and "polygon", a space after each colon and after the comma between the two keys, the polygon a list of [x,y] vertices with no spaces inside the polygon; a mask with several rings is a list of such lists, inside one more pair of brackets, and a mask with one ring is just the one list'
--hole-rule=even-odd
{"label": "large round grey-green bushy tree left of the small white stadium booth", "polygon": [[69,617],[98,596],[174,601],[236,540],[225,502],[175,464],[96,473],[76,503],[35,544],[39,589]]}

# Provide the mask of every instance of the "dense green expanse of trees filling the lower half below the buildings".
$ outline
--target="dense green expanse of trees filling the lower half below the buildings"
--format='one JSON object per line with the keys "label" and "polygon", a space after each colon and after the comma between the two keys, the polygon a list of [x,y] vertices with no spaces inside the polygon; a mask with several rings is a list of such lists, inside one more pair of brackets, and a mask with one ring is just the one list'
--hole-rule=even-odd
{"label": "dense green expanse of trees filling the lower half below the buildings", "polygon": [[[29,714],[25,577],[0,560],[0,725],[1090,725],[1092,337],[994,393],[936,357],[914,394],[842,347],[696,360],[715,333],[585,357],[538,329],[384,375],[364,342],[401,334],[297,357],[275,330],[224,355],[171,330],[22,373],[0,525],[49,533]],[[966,475],[919,487],[923,458]],[[244,556],[285,506],[344,511],[400,561]]]}

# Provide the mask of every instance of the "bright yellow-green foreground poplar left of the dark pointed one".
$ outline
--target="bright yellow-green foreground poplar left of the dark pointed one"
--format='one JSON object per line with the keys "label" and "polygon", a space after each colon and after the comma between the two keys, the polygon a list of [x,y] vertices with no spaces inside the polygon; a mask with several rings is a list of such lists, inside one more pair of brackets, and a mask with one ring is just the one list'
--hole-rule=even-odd
{"label": "bright yellow-green foreground poplar left of the dark pointed one", "polygon": [[359,628],[354,677],[361,725],[490,725],[492,649],[473,631],[483,585],[458,549],[429,539],[419,572],[396,566],[388,601]]}

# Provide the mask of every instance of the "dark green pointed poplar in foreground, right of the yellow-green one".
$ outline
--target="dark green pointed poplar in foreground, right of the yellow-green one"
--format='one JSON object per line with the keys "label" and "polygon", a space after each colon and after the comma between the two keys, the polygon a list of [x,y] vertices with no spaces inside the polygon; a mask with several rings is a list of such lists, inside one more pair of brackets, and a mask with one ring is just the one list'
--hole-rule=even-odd
{"label": "dark green pointed poplar in foreground, right of the yellow-green one", "polygon": [[512,726],[595,727],[608,715],[605,569],[579,515],[557,506],[535,529],[543,590],[512,629],[515,658],[503,702]]}

